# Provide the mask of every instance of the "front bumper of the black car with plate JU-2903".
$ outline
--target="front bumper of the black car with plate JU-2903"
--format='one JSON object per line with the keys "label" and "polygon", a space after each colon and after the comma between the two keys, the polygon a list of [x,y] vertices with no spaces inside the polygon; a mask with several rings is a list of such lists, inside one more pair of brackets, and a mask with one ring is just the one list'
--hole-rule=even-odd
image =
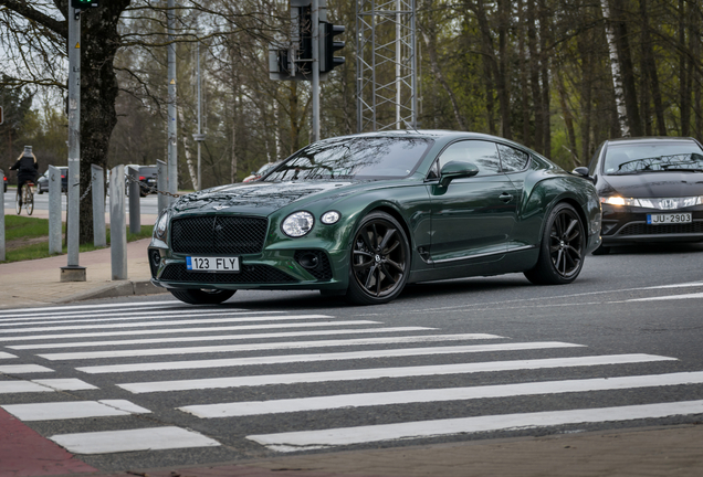
{"label": "front bumper of the black car with plate JU-2903", "polygon": [[[664,213],[691,213],[693,221],[663,225],[647,223],[648,214]],[[602,204],[601,236],[604,245],[703,241],[703,206],[657,210]]]}

